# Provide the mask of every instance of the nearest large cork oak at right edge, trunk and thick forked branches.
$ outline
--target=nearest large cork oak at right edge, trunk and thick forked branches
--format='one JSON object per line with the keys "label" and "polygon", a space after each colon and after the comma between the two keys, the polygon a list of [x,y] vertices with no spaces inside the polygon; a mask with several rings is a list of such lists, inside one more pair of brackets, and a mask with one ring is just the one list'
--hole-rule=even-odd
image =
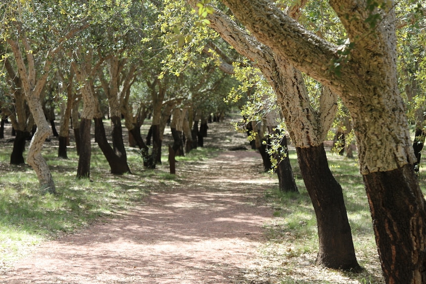
{"label": "nearest large cork oak at right edge, trunk and thick forked branches", "polygon": [[[411,167],[411,174],[405,173],[400,181],[400,195],[408,198],[399,203],[399,212],[424,215],[424,203],[413,165],[415,156],[410,142],[405,105],[399,95],[396,68],[396,35],[395,5],[387,1],[386,5],[368,12],[367,1],[330,0],[330,4],[339,16],[349,38],[349,44],[334,45],[308,32],[293,19],[268,0],[223,0],[232,12],[256,38],[269,46],[276,55],[287,58],[299,70],[317,79],[341,95],[348,108],[358,142],[360,172],[364,175],[367,196],[373,220],[379,214],[374,208],[382,207],[385,214],[391,215],[394,198],[394,187],[389,183],[373,182],[376,175],[387,176],[402,168]],[[367,24],[369,17],[378,16],[380,21],[372,27]],[[348,42],[348,43],[349,43]],[[347,56],[350,54],[350,57]],[[336,70],[334,63],[341,62]],[[373,194],[371,194],[373,193]],[[373,198],[379,197],[379,198]],[[418,211],[413,211],[418,208]],[[410,219],[409,218],[409,219]],[[399,274],[406,276],[403,283],[426,283],[425,258],[421,255],[426,245],[425,224],[420,222],[417,230],[408,235],[400,235],[401,239],[388,238],[386,233],[389,223],[377,224],[382,230],[375,230],[379,254],[382,257],[382,269],[387,283],[399,283]],[[392,230],[407,231],[406,222],[393,222]],[[420,235],[419,235],[420,234]],[[407,254],[392,253],[390,256],[383,244],[386,239],[393,245],[401,243],[417,243],[409,249],[413,257]],[[388,249],[388,246],[387,246]],[[392,263],[404,263],[394,270]]]}

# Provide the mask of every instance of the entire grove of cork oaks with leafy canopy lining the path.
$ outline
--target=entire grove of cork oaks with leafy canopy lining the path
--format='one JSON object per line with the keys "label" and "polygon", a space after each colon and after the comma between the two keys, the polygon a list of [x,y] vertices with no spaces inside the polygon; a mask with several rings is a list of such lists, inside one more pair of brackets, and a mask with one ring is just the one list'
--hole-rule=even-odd
{"label": "entire grove of cork oaks with leafy canopy lining the path", "polygon": [[43,143],[57,135],[67,159],[70,125],[76,176],[89,178],[92,129],[111,174],[125,174],[126,143],[155,168],[168,121],[170,149],[185,155],[203,146],[209,119],[238,108],[237,124],[282,191],[298,191],[286,133],[296,147],[317,264],[356,271],[324,148],[331,131],[353,129],[385,281],[426,284],[422,1],[5,0],[0,12],[1,125],[7,119],[15,132],[10,163],[31,165],[41,193],[56,192]]}

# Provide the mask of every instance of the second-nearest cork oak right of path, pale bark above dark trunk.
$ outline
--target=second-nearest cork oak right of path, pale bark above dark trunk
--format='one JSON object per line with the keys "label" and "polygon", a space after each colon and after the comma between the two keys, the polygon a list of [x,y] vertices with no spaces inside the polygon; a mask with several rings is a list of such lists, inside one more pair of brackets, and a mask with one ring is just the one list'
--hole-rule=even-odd
{"label": "second-nearest cork oak right of path, pale bark above dark trunk", "polygon": [[[193,4],[193,7],[196,7],[196,1],[188,1]],[[248,12],[247,7],[253,6],[253,3],[250,3],[250,1],[240,1],[236,3],[237,1],[224,0],[223,2],[231,7],[234,14],[238,16],[243,23],[246,23],[249,19],[247,19],[247,15],[243,15],[241,11],[244,10],[244,13],[253,13],[255,11],[250,10],[250,12]],[[243,8],[241,6],[242,2],[245,2],[244,5],[246,7]],[[238,8],[234,8],[237,6]],[[289,11],[298,11],[298,5],[295,4],[295,6],[296,9],[290,9]],[[331,92],[329,89],[325,90],[321,96],[319,110],[314,110],[310,104],[310,99],[300,72],[295,69],[285,56],[275,52],[275,49],[272,50],[270,47],[258,42],[254,37],[241,30],[234,22],[230,21],[229,18],[217,9],[214,9],[213,15],[209,15],[208,19],[211,22],[211,27],[217,31],[224,40],[228,41],[239,53],[247,56],[253,62],[256,62],[256,66],[271,84],[273,90],[276,91],[278,103],[283,112],[286,126],[296,147],[300,149],[306,148],[303,151],[309,151],[308,148],[315,148],[322,145],[325,135],[336,114],[337,96],[335,93]],[[250,19],[254,20],[256,16],[252,14]],[[255,33],[254,31],[255,30],[252,29],[252,33]],[[298,56],[300,56],[300,54]],[[313,151],[312,155],[315,154],[319,155],[320,152]],[[321,157],[314,159],[319,160]],[[322,166],[328,166],[328,164],[322,164]],[[321,173],[312,170],[311,167],[306,167],[303,173],[303,180],[305,181],[306,187],[313,185],[313,183],[307,182],[312,176],[322,181],[321,176],[318,176]],[[330,178],[331,177],[332,175]],[[334,181],[334,183],[337,184],[336,181]],[[339,190],[328,191],[327,181],[316,184],[315,187],[308,189],[308,191],[315,193],[317,187],[321,187],[321,193],[326,194],[324,200],[334,200],[337,203],[336,206],[321,206],[321,208],[329,210],[327,215],[341,215],[341,208],[344,208],[342,195],[340,194],[335,198],[335,192]],[[314,195],[312,194],[312,196]],[[312,202],[315,202],[315,200],[312,200]],[[314,206],[314,208],[315,207],[317,206]],[[317,218],[323,218],[325,215],[316,214],[316,216]],[[347,223],[347,217],[340,218],[339,220]],[[324,223],[323,220],[317,220],[318,226],[322,226]],[[348,223],[334,225],[336,228],[349,226]],[[318,232],[320,234],[325,233],[325,230],[318,228]],[[334,256],[339,255],[339,251],[335,251],[335,249],[338,248],[334,248],[330,245],[323,245],[322,242],[327,238],[331,238],[332,242],[352,243],[351,234],[339,230],[332,230],[327,232],[326,236],[319,236],[319,247],[323,249],[319,251],[318,254],[317,263],[319,265],[325,265],[330,268],[344,267],[357,269],[359,267],[353,245],[346,246],[347,248],[352,247],[352,249],[347,252],[347,255],[350,255],[350,257],[334,258]]]}

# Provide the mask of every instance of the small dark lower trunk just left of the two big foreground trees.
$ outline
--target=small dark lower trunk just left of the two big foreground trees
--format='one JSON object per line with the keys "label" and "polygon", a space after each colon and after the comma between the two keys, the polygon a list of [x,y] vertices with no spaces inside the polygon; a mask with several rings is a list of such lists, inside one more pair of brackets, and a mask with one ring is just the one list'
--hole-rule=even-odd
{"label": "small dark lower trunk just left of the two big foreground trees", "polygon": [[[279,130],[276,130],[279,131]],[[287,137],[284,135],[281,139],[281,147],[284,149],[284,157],[279,158],[278,155],[275,159],[278,161],[276,173],[278,176],[278,182],[280,191],[282,192],[298,192],[298,186],[296,185],[295,177],[293,175],[292,165],[290,164],[289,151],[287,148]]]}

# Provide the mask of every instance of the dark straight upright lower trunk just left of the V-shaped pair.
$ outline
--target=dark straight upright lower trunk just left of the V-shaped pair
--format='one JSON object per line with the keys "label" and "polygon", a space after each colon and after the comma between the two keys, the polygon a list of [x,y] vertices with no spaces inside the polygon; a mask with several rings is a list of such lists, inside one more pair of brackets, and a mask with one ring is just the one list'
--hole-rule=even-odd
{"label": "dark straight upright lower trunk just left of the V-shaped pair", "polygon": [[82,118],[80,121],[80,156],[79,165],[77,168],[78,178],[90,177],[90,124],[91,120]]}

